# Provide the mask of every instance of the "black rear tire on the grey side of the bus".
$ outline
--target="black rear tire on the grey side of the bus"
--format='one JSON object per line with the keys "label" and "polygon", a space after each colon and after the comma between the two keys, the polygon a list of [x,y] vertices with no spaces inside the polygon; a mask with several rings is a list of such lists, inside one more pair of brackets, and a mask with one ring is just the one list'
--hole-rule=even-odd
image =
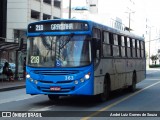
{"label": "black rear tire on the grey side of the bus", "polygon": [[132,75],[132,85],[129,86],[129,91],[130,92],[135,92],[136,91],[136,83],[137,83],[137,75],[136,75],[136,72],[134,71],[133,75]]}

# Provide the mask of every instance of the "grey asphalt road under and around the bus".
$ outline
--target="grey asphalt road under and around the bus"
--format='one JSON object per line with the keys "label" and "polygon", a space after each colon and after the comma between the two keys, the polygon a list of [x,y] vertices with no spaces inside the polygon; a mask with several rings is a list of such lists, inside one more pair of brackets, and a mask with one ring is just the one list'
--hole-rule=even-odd
{"label": "grey asphalt road under and around the bus", "polygon": [[[160,115],[160,70],[148,70],[146,79],[137,84],[136,92],[115,91],[104,103],[98,102],[96,97],[81,96],[62,97],[55,104],[45,95],[27,95],[25,89],[0,92],[0,111],[12,111],[12,117],[15,117],[1,117],[0,120],[21,120],[22,114],[23,119],[27,120],[44,120],[43,115],[55,116],[54,120],[158,120],[160,117],[156,115]],[[19,117],[13,112],[20,113]],[[35,115],[32,113],[37,113],[42,118],[32,118]],[[47,120],[50,119],[53,120],[53,117],[47,117]]]}

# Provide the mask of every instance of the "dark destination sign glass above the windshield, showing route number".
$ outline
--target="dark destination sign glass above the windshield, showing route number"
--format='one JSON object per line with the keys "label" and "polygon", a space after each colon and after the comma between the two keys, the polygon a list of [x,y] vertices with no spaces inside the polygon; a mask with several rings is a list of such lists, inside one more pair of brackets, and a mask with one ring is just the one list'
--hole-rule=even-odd
{"label": "dark destination sign glass above the windshield, showing route number", "polygon": [[86,31],[88,29],[86,22],[42,22],[28,26],[28,32]]}

